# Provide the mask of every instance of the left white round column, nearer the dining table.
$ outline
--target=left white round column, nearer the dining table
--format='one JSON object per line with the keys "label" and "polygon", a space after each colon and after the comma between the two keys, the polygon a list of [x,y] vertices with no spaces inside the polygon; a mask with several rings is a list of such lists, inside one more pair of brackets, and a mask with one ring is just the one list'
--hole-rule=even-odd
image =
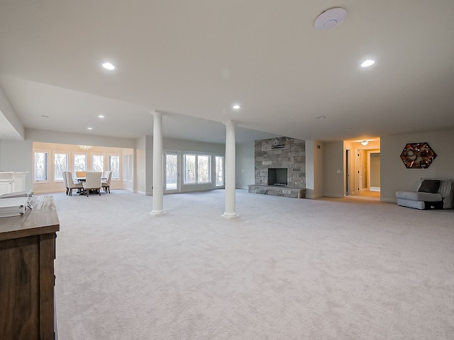
{"label": "left white round column, nearer the dining table", "polygon": [[162,156],[162,113],[153,112],[153,210],[151,215],[165,215],[162,208],[164,197],[164,166]]}

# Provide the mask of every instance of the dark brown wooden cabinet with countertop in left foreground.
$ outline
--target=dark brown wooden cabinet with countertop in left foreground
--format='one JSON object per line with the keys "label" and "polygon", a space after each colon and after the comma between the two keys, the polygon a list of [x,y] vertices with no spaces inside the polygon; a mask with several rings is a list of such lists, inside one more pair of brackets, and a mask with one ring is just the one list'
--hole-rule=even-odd
{"label": "dark brown wooden cabinet with countertop in left foreground", "polygon": [[34,197],[23,216],[0,218],[0,339],[55,339],[52,196]]}

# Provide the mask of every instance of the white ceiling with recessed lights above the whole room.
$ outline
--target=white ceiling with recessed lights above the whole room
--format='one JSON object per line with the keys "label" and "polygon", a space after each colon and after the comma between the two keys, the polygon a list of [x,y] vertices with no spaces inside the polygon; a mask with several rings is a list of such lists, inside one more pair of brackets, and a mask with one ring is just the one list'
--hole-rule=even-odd
{"label": "white ceiling with recessed lights above the whole room", "polygon": [[[334,6],[348,11],[345,21],[316,30]],[[26,128],[139,137],[151,134],[153,110],[167,112],[165,137],[206,142],[225,141],[226,120],[238,122],[238,142],[454,128],[453,0],[0,0],[0,8],[0,86]],[[361,68],[367,58],[375,65]]]}

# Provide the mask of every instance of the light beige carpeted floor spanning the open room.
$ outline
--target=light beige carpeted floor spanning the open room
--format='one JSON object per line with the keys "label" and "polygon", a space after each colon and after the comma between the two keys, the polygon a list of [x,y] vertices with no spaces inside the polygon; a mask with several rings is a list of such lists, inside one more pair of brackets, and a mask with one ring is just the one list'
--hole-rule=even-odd
{"label": "light beige carpeted floor spanning the open room", "polygon": [[59,339],[454,339],[454,211],[53,195]]}

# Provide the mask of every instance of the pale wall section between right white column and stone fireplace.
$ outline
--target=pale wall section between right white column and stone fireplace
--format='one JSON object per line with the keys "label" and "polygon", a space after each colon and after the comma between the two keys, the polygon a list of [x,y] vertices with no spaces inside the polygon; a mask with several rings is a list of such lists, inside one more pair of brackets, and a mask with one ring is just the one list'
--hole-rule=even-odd
{"label": "pale wall section between right white column and stone fireplace", "polygon": [[236,188],[255,183],[255,142],[236,145]]}

